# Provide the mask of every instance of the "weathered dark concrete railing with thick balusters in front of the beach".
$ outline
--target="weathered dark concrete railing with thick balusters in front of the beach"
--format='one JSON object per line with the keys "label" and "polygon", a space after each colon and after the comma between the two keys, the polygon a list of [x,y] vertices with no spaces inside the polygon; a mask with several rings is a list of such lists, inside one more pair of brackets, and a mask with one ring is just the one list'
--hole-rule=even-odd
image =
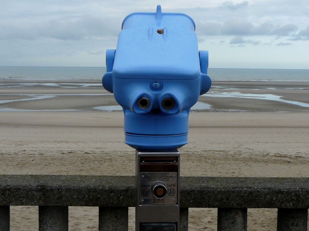
{"label": "weathered dark concrete railing with thick balusters in front of the beach", "polygon": [[[68,230],[68,206],[99,207],[99,231],[128,230],[134,176],[0,175],[0,230],[10,205],[39,206],[39,230]],[[277,230],[307,231],[309,178],[180,177],[180,230],[188,208],[218,208],[218,230],[247,230],[247,208],[278,208]]]}

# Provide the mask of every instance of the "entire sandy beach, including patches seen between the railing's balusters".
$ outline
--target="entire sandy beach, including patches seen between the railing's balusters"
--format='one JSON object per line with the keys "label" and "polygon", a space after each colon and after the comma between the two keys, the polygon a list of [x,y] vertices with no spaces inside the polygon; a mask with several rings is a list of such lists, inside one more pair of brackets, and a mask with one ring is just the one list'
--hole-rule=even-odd
{"label": "entire sandy beach, including patches seen between the railing's balusters", "polygon": [[[117,105],[99,82],[0,83],[0,174],[135,174],[122,111],[96,109]],[[308,82],[214,82],[199,99],[210,107],[190,112],[181,175],[309,177],[308,93]],[[276,230],[276,213],[248,209],[248,230]],[[97,230],[97,216],[70,207],[69,229]],[[130,230],[133,217],[130,208]],[[217,209],[189,210],[189,230],[216,222]],[[38,230],[37,207],[11,206],[11,230]]]}

